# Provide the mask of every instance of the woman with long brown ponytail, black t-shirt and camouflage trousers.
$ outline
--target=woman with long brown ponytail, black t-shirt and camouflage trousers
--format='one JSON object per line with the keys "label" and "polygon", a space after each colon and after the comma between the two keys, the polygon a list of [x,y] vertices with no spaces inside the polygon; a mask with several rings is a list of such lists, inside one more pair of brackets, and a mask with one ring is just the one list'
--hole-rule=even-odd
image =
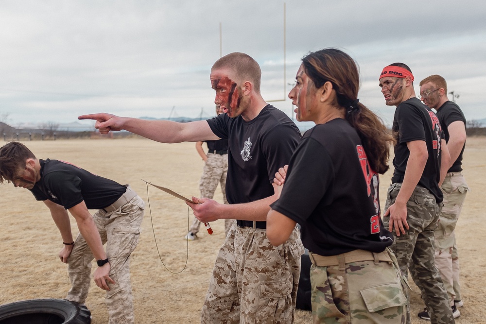
{"label": "woman with long brown ponytail, black t-shirt and camouflage trousers", "polygon": [[276,173],[281,194],[267,215],[267,236],[279,246],[301,225],[312,261],[313,323],[405,323],[408,300],[378,192],[393,137],[359,102],[358,89],[358,68],[343,51],[302,59],[289,98],[297,120],[316,125]]}

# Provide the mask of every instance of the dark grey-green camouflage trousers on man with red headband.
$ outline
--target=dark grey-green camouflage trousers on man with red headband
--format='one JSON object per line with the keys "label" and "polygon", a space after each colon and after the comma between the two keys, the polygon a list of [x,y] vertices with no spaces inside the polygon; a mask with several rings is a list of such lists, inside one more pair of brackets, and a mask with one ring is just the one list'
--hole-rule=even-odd
{"label": "dark grey-green camouflage trousers on man with red headband", "polygon": [[[401,183],[388,188],[385,212],[395,202]],[[447,291],[439,271],[435,267],[434,231],[437,228],[440,206],[429,190],[417,186],[407,202],[407,222],[410,229],[397,236],[390,249],[397,256],[400,270],[410,271],[415,284],[420,289],[425,306],[429,310],[432,324],[455,323]],[[389,217],[383,217],[383,225],[388,228]],[[407,323],[410,323],[410,307],[407,307]]]}

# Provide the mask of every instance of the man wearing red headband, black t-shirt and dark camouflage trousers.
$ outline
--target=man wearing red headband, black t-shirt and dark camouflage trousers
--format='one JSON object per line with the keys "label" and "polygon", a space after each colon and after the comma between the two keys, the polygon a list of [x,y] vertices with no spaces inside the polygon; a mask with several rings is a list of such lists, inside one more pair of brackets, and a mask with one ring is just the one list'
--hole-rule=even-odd
{"label": "man wearing red headband, black t-shirt and dark camouflage trousers", "polygon": [[[410,271],[420,288],[432,323],[454,323],[449,298],[434,264],[434,230],[443,195],[440,184],[449,152],[439,120],[416,97],[414,76],[403,63],[382,70],[380,87],[388,106],[396,106],[393,133],[392,185],[388,189],[383,224],[393,233],[390,248],[403,273]],[[410,323],[410,308],[407,309]]]}

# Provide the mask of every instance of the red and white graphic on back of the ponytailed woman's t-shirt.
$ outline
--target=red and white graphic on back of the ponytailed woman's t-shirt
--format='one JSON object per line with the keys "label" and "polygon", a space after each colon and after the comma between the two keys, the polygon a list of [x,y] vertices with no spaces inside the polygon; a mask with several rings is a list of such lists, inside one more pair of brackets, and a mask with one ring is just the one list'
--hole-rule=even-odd
{"label": "red and white graphic on back of the ponytailed woman's t-shirt", "polygon": [[378,197],[378,173],[371,170],[368,163],[368,158],[364,152],[362,145],[356,145],[356,152],[358,153],[358,158],[360,159],[361,170],[363,171],[364,180],[366,182],[366,189],[368,197],[373,195],[373,204],[375,205],[376,214],[371,216],[371,234],[380,233],[380,202]]}

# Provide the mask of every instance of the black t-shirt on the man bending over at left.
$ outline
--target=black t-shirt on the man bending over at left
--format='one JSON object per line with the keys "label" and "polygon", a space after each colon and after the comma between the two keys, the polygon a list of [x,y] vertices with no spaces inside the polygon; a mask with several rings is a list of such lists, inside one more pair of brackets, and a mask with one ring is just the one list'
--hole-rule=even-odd
{"label": "black t-shirt on the man bending over at left", "polygon": [[36,200],[50,200],[65,209],[84,201],[88,209],[102,209],[126,191],[121,184],[68,162],[50,159],[39,162],[41,178],[31,189]]}

